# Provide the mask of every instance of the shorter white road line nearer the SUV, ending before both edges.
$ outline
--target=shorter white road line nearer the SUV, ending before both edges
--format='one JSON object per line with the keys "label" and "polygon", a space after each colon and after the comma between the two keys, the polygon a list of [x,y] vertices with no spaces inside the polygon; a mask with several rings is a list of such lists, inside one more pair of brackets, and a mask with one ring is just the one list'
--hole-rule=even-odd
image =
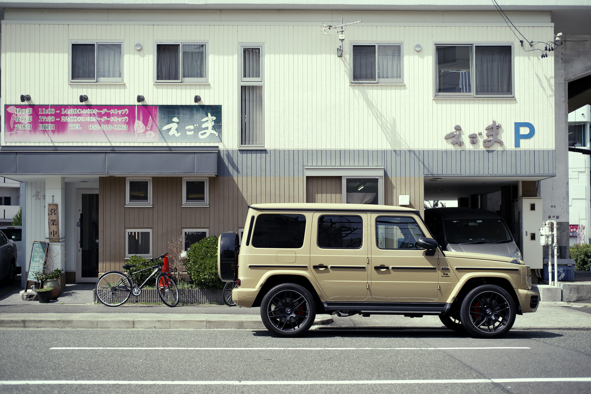
{"label": "shorter white road line nearer the SUV, ending before both edges", "polygon": [[531,347],[50,347],[50,350],[483,350]]}

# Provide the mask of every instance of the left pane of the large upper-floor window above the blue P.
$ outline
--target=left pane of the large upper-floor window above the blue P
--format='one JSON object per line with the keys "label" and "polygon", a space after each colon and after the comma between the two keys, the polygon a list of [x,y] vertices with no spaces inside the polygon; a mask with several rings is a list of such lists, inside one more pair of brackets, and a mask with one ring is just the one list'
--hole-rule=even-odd
{"label": "left pane of the large upper-floor window above the blue P", "polygon": [[472,93],[472,46],[437,46],[437,93]]}

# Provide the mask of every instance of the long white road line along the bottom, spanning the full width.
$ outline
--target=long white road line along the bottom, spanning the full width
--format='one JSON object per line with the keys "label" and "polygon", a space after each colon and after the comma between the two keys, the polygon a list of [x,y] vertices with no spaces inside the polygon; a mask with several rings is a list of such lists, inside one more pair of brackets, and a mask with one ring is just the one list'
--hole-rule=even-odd
{"label": "long white road line along the bottom, spanning the full width", "polygon": [[408,385],[429,383],[591,382],[591,377],[519,377],[509,379],[409,380],[0,380],[0,386],[18,385]]}

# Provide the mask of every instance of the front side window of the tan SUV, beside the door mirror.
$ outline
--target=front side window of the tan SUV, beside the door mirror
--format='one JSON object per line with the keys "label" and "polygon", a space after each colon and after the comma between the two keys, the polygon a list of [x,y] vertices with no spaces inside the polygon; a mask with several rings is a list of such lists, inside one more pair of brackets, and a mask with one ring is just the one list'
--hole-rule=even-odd
{"label": "front side window of the tan SUV, beside the door mirror", "polygon": [[380,249],[420,249],[423,231],[413,218],[379,216],[375,219],[376,244]]}

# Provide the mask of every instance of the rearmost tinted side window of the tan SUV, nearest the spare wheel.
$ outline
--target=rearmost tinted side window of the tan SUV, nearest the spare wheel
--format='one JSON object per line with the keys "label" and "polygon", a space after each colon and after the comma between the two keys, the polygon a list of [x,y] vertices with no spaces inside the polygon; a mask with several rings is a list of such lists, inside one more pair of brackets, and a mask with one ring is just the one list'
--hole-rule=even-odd
{"label": "rearmost tinted side window of the tan SUV, nearest the spare wheel", "polygon": [[306,217],[289,214],[261,214],[252,232],[255,248],[298,249],[304,244]]}

